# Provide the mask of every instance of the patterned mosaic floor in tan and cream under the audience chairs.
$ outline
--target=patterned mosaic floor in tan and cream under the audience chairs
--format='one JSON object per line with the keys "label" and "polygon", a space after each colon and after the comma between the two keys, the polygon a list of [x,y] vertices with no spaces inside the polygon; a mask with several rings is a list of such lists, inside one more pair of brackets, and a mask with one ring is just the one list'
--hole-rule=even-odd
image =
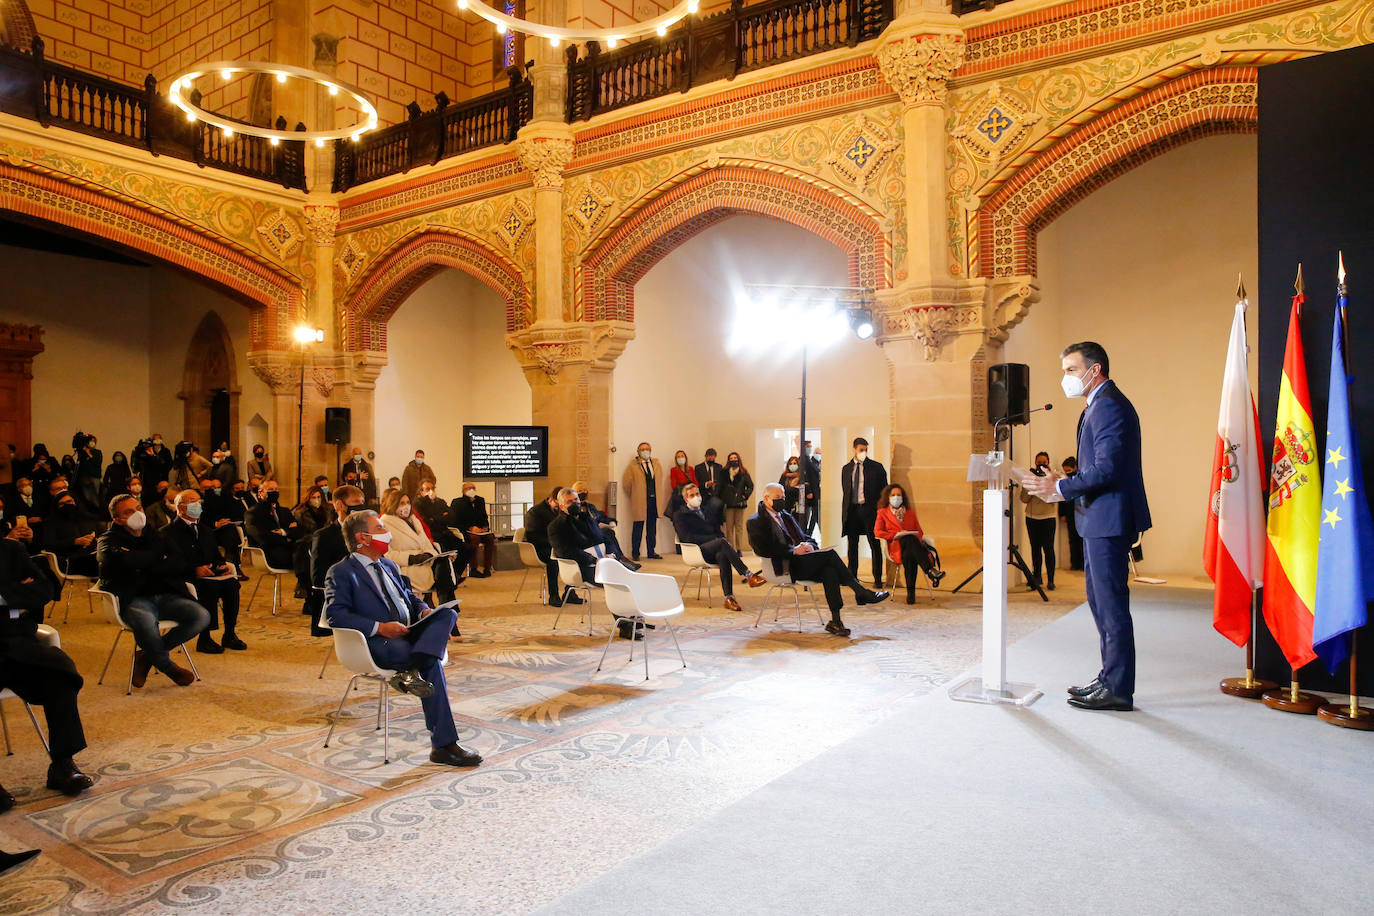
{"label": "patterned mosaic floor in tan and cream under the audience chairs", "polygon": [[[672,559],[647,569],[682,574]],[[676,628],[687,667],[664,629],[651,633],[646,681],[624,640],[595,672],[599,600],[592,636],[576,615],[555,632],[548,608],[510,602],[517,582],[460,589],[447,673],[460,742],[486,758],[475,770],[429,762],[408,696],[393,696],[383,765],[365,684],[323,747],[348,676],[331,661],[317,678],[328,643],[308,634],[298,602],[273,618],[260,596],[239,628],[249,651],[195,655],[202,683],[154,676],[125,696],[128,640],[96,685],[114,629],[78,596],[59,629],[87,674],[78,762],[96,786],[77,799],[44,788],[37,737],[5,703],[15,755],[0,758],[0,783],[19,805],[0,816],[0,847],[44,856],[0,882],[0,915],[528,912],[857,735],[980,651],[977,595],[849,608],[842,640],[813,612],[800,632],[790,612],[756,629],[764,589],[741,588],[743,614],[719,593],[714,608],[688,602]],[[1014,596],[1013,637],[1079,604],[1081,578],[1063,574],[1052,597]]]}

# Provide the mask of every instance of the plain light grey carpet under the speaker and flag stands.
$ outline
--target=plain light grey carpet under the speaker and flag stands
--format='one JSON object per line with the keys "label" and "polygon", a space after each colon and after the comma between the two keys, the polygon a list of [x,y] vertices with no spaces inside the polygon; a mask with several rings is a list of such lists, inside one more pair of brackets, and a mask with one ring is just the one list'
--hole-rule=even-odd
{"label": "plain light grey carpet under the speaker and flag stands", "polygon": [[1080,607],[1011,648],[1029,709],[934,694],[540,912],[1374,913],[1374,733],[1221,695],[1209,592],[1134,608],[1135,711],[1065,705]]}

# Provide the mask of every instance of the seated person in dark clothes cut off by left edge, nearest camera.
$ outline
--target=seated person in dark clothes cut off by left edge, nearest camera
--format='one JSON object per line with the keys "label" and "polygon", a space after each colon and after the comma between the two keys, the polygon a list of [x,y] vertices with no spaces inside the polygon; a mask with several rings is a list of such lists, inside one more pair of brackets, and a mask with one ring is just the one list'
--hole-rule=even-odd
{"label": "seated person in dark clothes cut off by left edge, nearest camera", "polygon": [[[76,757],[85,748],[77,692],[81,674],[60,648],[38,640],[38,622],[49,599],[48,585],[23,548],[0,540],[0,688],[43,706],[48,720],[48,788],[80,795],[91,788],[89,776],[77,769]],[[14,795],[0,786],[0,813],[14,808]]]}

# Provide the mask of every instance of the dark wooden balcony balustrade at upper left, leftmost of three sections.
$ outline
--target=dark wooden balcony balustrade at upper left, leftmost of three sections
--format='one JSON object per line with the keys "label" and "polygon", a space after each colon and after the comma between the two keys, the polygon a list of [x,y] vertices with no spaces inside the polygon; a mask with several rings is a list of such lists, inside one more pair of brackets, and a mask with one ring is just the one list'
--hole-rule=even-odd
{"label": "dark wooden balcony balustrade at upper left, leftmost of three sections", "polygon": [[[268,140],[242,133],[225,137],[203,121],[190,124],[158,93],[151,74],[140,91],[84,73],[45,59],[43,38],[34,38],[27,52],[0,45],[0,111],[32,118],[43,126],[143,147],[154,155],[305,190],[304,143],[273,147]],[[284,128],[283,121],[278,124]]]}

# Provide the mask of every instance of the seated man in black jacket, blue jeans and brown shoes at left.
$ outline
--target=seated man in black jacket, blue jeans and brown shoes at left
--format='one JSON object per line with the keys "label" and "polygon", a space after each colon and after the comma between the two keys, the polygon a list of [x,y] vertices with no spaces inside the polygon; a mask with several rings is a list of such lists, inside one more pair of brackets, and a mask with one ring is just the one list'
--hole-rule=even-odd
{"label": "seated man in black jacket, blue jeans and brown shoes at left", "polygon": [[[172,662],[172,650],[210,625],[210,614],[191,600],[181,563],[162,534],[147,527],[137,500],[124,494],[110,500],[114,525],[96,541],[100,589],[120,599],[120,619],[133,630],[133,685],[143,687],[157,667],[177,687],[195,674]],[[162,634],[158,621],[174,628]]]}

